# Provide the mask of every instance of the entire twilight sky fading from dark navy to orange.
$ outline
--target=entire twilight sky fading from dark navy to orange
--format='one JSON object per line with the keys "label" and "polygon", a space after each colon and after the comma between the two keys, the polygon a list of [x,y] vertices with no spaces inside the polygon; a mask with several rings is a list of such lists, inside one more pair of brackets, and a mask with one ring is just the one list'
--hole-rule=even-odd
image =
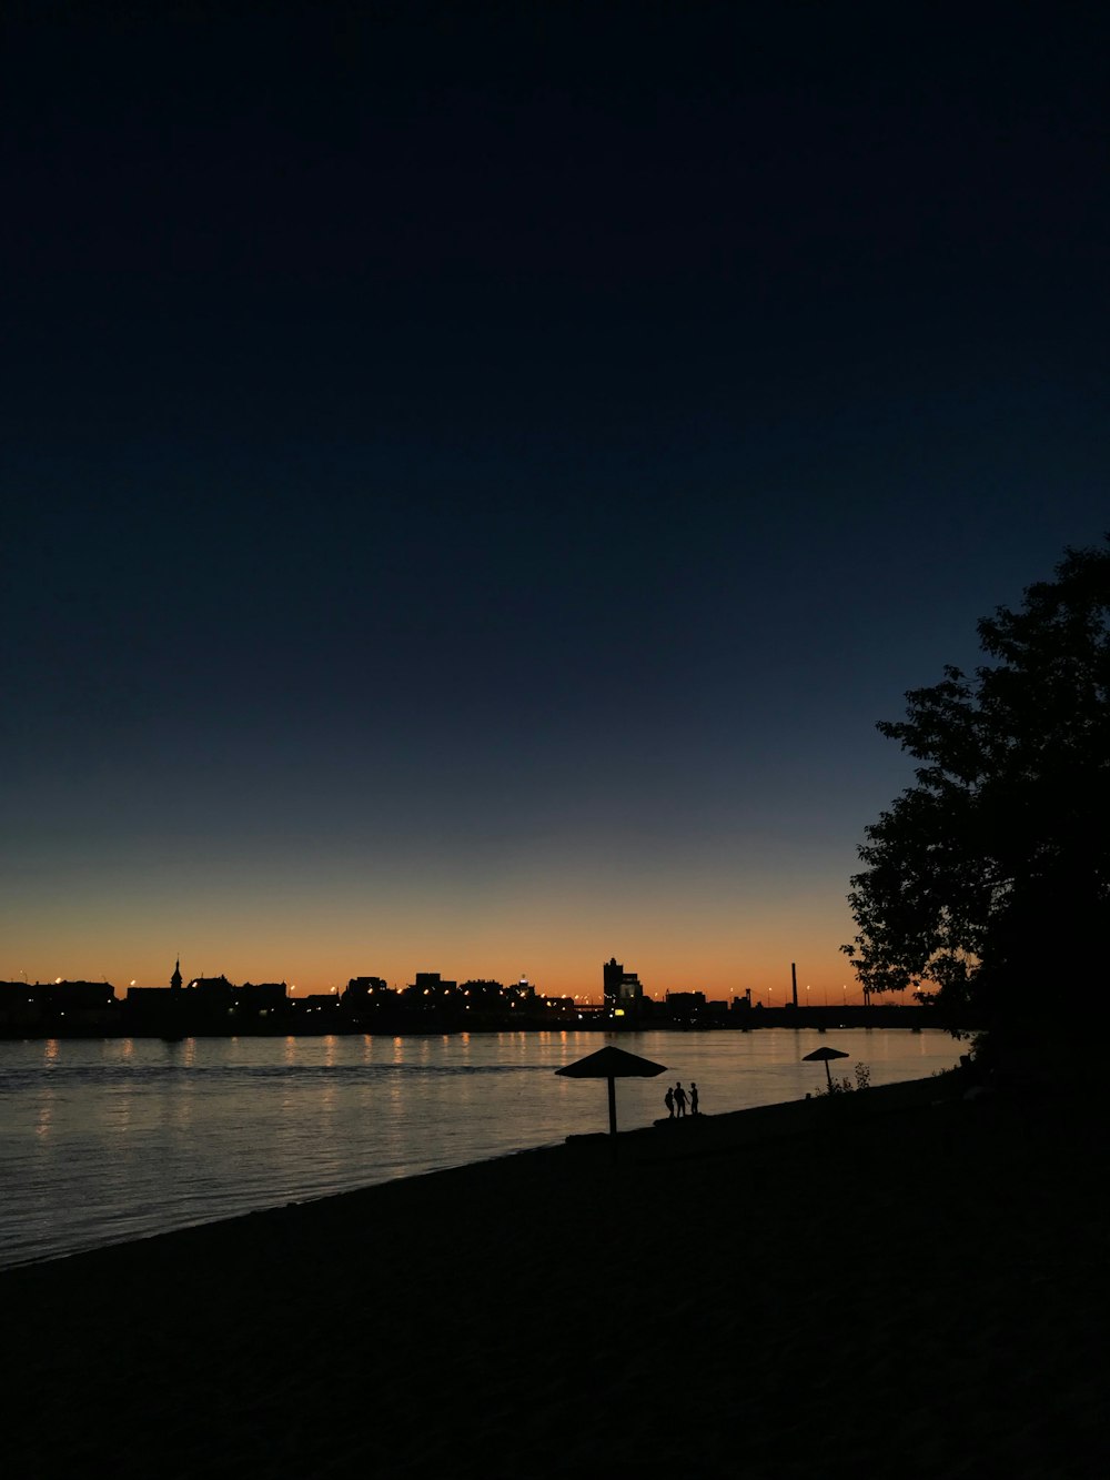
{"label": "entire twilight sky fading from dark navy to orange", "polygon": [[0,978],[858,999],[1110,528],[1097,7],[10,7]]}

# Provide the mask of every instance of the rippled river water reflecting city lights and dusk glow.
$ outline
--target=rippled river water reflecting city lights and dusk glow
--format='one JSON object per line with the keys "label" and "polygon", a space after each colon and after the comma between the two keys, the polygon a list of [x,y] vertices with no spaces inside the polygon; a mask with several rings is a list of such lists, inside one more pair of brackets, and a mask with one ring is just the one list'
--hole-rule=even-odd
{"label": "rippled river water reflecting city lights and dusk glow", "polygon": [[[605,1085],[554,1070],[596,1033],[0,1043],[0,1265],[411,1177],[607,1125]],[[666,1064],[617,1085],[622,1129],[696,1079],[707,1114],[801,1100],[827,1043],[872,1083],[950,1069],[926,1030],[629,1033]]]}

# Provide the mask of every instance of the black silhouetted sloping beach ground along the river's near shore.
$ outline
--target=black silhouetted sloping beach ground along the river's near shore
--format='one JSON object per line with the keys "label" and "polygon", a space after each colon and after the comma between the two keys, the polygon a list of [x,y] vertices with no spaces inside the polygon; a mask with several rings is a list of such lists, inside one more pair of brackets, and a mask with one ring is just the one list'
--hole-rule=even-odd
{"label": "black silhouetted sloping beach ground along the river's near shore", "polygon": [[1101,1480],[1101,1095],[952,1095],[586,1140],[7,1271],[4,1473]]}

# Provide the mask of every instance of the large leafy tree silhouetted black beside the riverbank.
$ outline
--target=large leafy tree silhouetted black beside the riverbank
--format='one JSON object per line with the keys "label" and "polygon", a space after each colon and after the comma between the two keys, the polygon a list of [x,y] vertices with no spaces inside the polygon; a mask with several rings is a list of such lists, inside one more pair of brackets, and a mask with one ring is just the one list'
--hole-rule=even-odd
{"label": "large leafy tree silhouetted black beside the riverbank", "polygon": [[1110,545],[1069,549],[1018,611],[978,623],[992,663],[946,667],[879,724],[921,764],[851,881],[858,935],[842,949],[870,990],[931,986],[986,1026],[1106,975],[1109,614]]}

